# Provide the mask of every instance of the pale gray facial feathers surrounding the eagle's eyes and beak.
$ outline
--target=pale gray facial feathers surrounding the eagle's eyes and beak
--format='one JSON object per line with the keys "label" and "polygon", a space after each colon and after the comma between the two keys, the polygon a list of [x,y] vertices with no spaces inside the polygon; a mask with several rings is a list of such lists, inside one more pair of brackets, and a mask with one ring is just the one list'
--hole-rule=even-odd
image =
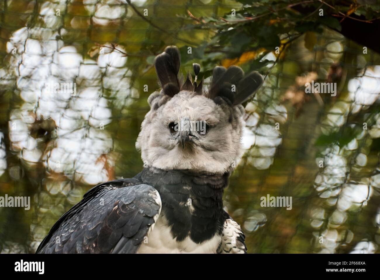
{"label": "pale gray facial feathers surrounding the eagle's eyes and beak", "polygon": [[[234,123],[230,122],[231,114]],[[199,136],[198,143],[187,143],[184,148],[168,128],[170,122],[183,118],[206,121],[210,126],[207,134]],[[156,168],[225,173],[232,171],[233,161],[237,162],[242,155],[243,127],[237,106],[231,110],[228,105],[181,91],[157,110],[147,113],[136,148],[141,150],[144,163]]]}

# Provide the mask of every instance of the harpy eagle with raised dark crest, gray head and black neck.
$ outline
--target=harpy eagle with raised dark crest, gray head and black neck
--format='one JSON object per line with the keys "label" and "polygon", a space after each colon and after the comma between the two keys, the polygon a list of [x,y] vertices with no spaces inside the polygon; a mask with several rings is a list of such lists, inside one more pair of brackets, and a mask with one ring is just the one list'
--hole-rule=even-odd
{"label": "harpy eagle with raised dark crest, gray head and black neck", "polygon": [[[214,68],[209,87],[181,74],[177,47],[154,61],[152,93],[136,148],[134,178],[90,189],[51,228],[36,253],[245,253],[240,225],[223,210],[223,190],[242,156],[242,102],[263,83],[258,72]],[[185,81],[184,81],[185,80]],[[187,125],[191,123],[202,125]],[[184,125],[185,124],[185,125]]]}

